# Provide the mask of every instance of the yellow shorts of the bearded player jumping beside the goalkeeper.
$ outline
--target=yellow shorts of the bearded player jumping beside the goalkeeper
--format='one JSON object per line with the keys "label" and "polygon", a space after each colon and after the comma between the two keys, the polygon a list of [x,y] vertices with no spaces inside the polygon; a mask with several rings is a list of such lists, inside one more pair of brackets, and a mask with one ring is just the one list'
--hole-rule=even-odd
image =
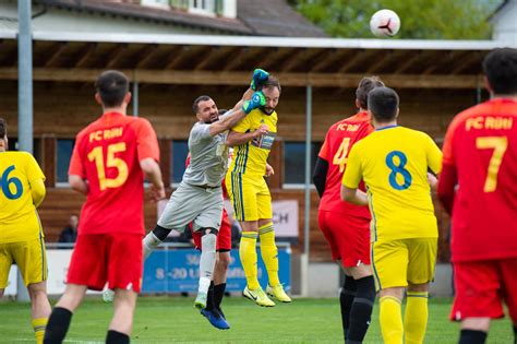
{"label": "yellow shorts of the bearded player jumping beside the goalkeeper", "polygon": [[263,176],[228,173],[226,189],[238,221],[273,218],[272,195]]}

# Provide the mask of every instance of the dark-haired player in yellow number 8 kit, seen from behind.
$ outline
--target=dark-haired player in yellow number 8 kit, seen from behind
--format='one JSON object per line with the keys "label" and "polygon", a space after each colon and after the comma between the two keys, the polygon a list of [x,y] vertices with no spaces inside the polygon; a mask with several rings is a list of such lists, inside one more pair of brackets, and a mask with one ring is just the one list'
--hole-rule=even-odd
{"label": "dark-haired player in yellow number 8 kit, seen from behind", "polygon": [[[438,236],[428,170],[440,173],[442,153],[428,134],[397,126],[398,103],[392,88],[369,93],[375,131],[351,149],[341,198],[370,205],[372,266],[384,343],[401,344],[405,339],[406,344],[413,344],[422,343],[425,335]],[[361,180],[366,193],[358,190]]]}

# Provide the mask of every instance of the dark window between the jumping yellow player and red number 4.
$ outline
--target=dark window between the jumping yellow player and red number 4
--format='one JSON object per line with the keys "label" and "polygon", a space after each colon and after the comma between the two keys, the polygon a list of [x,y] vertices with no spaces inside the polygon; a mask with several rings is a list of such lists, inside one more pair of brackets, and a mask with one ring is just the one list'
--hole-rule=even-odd
{"label": "dark window between the jumping yellow player and red number 4", "polygon": [[[311,176],[321,146],[321,142],[311,143]],[[284,183],[301,185],[305,182],[305,142],[284,143]]]}

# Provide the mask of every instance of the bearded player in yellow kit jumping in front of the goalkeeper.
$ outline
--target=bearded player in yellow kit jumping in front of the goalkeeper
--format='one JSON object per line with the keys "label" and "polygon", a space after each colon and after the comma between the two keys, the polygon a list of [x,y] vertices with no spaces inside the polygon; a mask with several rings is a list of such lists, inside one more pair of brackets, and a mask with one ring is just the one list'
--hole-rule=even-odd
{"label": "bearded player in yellow kit jumping in front of the goalkeeper", "polygon": [[[266,293],[281,303],[291,301],[278,278],[272,198],[264,179],[266,161],[276,137],[278,116],[275,107],[278,105],[281,87],[277,79],[263,70],[254,71],[251,87],[262,88],[266,105],[251,111],[228,134],[227,143],[235,150],[226,175],[226,187],[233,204],[235,217],[242,227],[239,256],[248,282],[243,295],[260,306],[273,307],[275,303]],[[257,280],[257,234],[268,276],[266,293]]]}

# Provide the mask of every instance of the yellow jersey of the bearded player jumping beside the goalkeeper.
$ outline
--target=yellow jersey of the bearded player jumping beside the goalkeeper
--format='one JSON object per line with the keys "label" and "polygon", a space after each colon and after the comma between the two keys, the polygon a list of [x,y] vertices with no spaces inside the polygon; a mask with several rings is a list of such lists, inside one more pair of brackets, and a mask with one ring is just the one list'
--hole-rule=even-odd
{"label": "yellow jersey of the bearded player jumping beside the goalkeeper", "polygon": [[276,111],[267,115],[261,109],[255,109],[248,114],[236,127],[231,128],[231,130],[236,132],[247,133],[255,131],[262,124],[266,124],[269,130],[260,138],[233,146],[233,159],[228,173],[236,171],[243,175],[265,175],[266,161],[275,142],[277,121],[278,116]]}

